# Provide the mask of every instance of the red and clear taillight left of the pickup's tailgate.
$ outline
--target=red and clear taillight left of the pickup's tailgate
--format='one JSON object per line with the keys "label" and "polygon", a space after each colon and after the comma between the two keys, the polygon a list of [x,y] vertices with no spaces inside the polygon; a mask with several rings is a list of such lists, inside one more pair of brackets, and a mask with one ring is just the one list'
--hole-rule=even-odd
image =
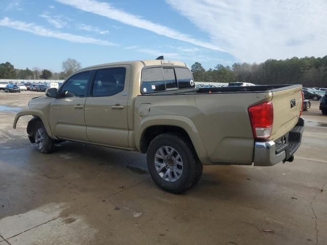
{"label": "red and clear taillight left of the pickup's tailgate", "polygon": [[272,102],[264,102],[249,107],[253,136],[255,139],[268,139],[271,136],[274,109]]}

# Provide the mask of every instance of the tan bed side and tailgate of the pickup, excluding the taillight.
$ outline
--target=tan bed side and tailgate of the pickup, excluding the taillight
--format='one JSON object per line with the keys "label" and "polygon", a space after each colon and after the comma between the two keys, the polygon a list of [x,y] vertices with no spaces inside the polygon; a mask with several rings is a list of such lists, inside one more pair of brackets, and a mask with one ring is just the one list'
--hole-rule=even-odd
{"label": "tan bed side and tailgate of the pickup, excluding the taillight", "polygon": [[[199,140],[195,140],[200,142],[196,149],[204,146],[203,155],[209,158],[209,161],[201,159],[202,162],[250,165],[255,139],[248,108],[272,101],[273,126],[269,140],[277,141],[297,124],[302,107],[301,89],[301,85],[261,85],[180,89],[138,95],[135,126],[148,124],[152,118],[165,118],[161,120],[162,124],[173,126],[178,126],[177,121],[189,121],[191,134],[199,135]],[[144,105],[148,106],[149,114],[138,116],[138,111],[143,115]],[[179,119],[172,121],[175,117]]]}

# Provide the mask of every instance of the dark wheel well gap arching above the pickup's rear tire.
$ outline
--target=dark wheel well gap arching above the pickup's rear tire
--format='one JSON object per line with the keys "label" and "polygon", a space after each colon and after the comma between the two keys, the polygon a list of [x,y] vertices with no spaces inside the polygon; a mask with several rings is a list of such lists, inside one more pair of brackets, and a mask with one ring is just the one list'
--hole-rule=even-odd
{"label": "dark wheel well gap arching above the pickup's rear tire", "polygon": [[164,133],[173,133],[185,139],[195,152],[194,145],[189,134],[183,128],[168,125],[151,126],[147,128],[141,138],[141,152],[147,153],[149,144],[154,139],[154,137]]}

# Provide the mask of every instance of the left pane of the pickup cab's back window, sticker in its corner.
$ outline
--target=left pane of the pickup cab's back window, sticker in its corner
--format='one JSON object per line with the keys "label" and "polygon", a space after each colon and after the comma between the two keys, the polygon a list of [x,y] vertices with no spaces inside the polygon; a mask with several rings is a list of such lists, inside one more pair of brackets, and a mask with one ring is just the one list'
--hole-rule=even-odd
{"label": "left pane of the pickup cab's back window, sticker in its corner", "polygon": [[165,91],[165,80],[161,67],[148,68],[142,73],[142,92]]}

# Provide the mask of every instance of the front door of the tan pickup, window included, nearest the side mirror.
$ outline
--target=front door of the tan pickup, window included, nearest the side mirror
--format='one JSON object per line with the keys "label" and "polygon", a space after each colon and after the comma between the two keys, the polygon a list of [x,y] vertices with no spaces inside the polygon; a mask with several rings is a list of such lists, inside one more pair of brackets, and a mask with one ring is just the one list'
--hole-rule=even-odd
{"label": "front door of the tan pickup, window included, nearest the side mirror", "polygon": [[88,141],[84,119],[84,106],[91,71],[69,78],[59,89],[59,99],[51,104],[50,123],[56,137]]}

